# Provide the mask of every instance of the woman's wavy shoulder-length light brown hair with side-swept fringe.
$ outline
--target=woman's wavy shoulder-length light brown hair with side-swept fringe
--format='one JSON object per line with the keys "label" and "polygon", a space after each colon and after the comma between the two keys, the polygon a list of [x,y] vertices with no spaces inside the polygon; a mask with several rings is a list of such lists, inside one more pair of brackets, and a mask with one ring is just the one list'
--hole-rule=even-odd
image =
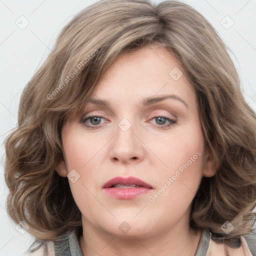
{"label": "woman's wavy shoulder-length light brown hair with side-swept fringe", "polygon": [[[227,46],[185,3],[109,0],[84,8],[63,27],[26,84],[18,125],[5,139],[8,214],[16,223],[25,221],[33,236],[56,240],[69,230],[80,230],[81,213],[68,180],[55,171],[64,160],[62,126],[85,106],[118,56],[153,44],[175,56],[192,84],[205,148],[217,169],[214,176],[201,179],[190,227],[207,228],[226,240],[253,231],[256,115],[242,95]],[[234,226],[228,234],[221,229],[226,221]]]}

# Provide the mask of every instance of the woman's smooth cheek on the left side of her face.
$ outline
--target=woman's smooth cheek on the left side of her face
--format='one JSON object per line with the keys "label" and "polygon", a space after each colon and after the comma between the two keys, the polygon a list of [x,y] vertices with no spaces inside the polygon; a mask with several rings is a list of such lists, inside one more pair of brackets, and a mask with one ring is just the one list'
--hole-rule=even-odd
{"label": "woman's smooth cheek on the left side of her face", "polygon": [[[69,128],[62,133],[62,144],[65,152],[67,172],[73,171],[75,182],[68,180],[73,198],[79,205],[80,200],[90,200],[95,180],[100,170],[99,159],[102,156],[103,142],[95,141],[80,128]],[[70,172],[71,173],[71,172]],[[95,200],[95,198],[91,198]]]}

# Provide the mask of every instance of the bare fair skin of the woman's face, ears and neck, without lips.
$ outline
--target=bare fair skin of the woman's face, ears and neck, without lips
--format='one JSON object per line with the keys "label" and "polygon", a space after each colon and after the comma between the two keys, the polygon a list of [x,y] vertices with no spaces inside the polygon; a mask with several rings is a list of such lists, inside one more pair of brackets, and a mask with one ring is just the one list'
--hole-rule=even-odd
{"label": "bare fair skin of the woman's face, ears and neck, without lips", "polygon": [[[62,128],[65,162],[56,171],[65,177],[75,169],[80,175],[68,181],[82,214],[83,255],[194,255],[200,240],[201,232],[189,228],[190,205],[202,176],[214,175],[216,168],[204,148],[192,85],[184,72],[178,80],[169,75],[182,68],[166,48],[149,46],[119,56],[101,77],[92,96],[109,106],[87,103]],[[144,98],[166,94],[178,95],[188,107],[171,98],[142,106]],[[94,129],[79,122],[89,114],[103,116],[86,120]],[[155,115],[176,123],[166,127],[169,121]],[[131,124],[126,131],[118,126],[122,118]],[[197,151],[200,156],[149,201]],[[152,191],[126,200],[103,192],[110,178],[130,175],[151,184]],[[118,228],[123,221],[130,226],[126,233]]]}

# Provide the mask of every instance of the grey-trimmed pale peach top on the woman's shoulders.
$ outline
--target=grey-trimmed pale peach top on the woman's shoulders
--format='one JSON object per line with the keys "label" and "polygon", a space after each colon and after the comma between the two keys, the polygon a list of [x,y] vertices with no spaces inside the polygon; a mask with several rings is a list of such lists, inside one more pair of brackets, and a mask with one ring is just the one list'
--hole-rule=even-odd
{"label": "grey-trimmed pale peach top on the woman's shoulders", "polygon": [[[246,236],[241,237],[241,244],[236,248],[228,247],[229,255],[238,253],[239,256],[256,256],[256,230]],[[37,244],[21,256],[83,256],[78,236],[75,231],[68,231],[61,236],[58,241],[48,241]],[[211,239],[211,233],[205,229],[202,232],[195,256],[224,256],[223,243],[215,242]]]}

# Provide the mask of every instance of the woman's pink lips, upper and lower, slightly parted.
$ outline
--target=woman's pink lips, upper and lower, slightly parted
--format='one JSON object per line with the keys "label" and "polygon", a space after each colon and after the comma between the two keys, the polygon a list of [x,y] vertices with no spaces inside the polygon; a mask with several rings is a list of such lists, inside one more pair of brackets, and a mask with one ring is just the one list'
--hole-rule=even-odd
{"label": "woman's pink lips, upper and lower, slightly parted", "polygon": [[[135,184],[135,185],[139,185],[139,187],[131,187],[131,188],[111,187],[112,185],[115,185],[115,184],[122,184],[122,185]],[[139,178],[132,177],[132,176],[114,177],[108,180],[102,186],[102,188],[107,195],[117,199],[133,199],[153,189],[153,187],[150,184],[146,183],[145,181]]]}

